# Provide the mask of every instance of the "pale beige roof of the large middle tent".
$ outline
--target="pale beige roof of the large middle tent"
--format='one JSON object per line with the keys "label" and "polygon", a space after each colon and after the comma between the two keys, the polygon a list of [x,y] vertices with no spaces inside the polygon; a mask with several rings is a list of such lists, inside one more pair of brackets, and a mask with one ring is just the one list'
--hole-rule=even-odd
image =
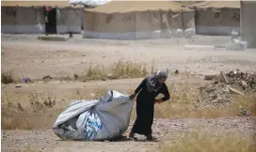
{"label": "pale beige roof of the large middle tent", "polygon": [[111,1],[97,8],[87,8],[87,11],[102,13],[147,11],[147,10],[171,10],[173,12],[192,11],[183,8],[181,4],[170,1]]}

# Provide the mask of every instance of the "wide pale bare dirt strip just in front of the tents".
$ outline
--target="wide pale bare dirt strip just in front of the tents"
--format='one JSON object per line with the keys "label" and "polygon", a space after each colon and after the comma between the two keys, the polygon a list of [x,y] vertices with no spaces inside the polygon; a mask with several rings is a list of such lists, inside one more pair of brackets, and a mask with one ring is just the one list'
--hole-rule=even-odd
{"label": "wide pale bare dirt strip just in front of the tents", "polygon": [[[173,40],[86,40],[51,42],[40,40],[7,40],[2,36],[2,68],[12,69],[16,77],[41,79],[82,74],[92,65],[110,68],[119,60],[152,63],[158,69],[180,69],[197,74],[216,74],[236,68],[256,67],[255,50],[225,51],[223,49],[184,49],[184,44],[171,45]],[[6,40],[5,40],[6,39]],[[206,38],[208,43],[212,40]],[[204,39],[204,41],[206,41]],[[175,41],[175,40],[174,40]],[[196,42],[195,42],[196,43]],[[214,42],[212,42],[214,43]],[[219,43],[219,42],[218,42]],[[224,42],[223,42],[224,43]],[[193,43],[192,43],[193,44]]]}

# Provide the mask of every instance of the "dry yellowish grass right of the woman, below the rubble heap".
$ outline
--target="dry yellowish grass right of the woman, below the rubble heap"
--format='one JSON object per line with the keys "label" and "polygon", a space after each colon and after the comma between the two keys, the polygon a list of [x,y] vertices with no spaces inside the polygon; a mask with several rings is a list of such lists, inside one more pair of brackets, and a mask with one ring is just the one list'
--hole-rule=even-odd
{"label": "dry yellowish grass right of the woman, below the rubble heap", "polygon": [[[186,95],[181,95],[181,97]],[[253,98],[254,97],[254,98]],[[160,105],[155,105],[155,117],[158,118],[216,118],[222,116],[243,116],[243,109],[249,115],[256,115],[255,95],[238,96],[229,106],[226,107],[202,107],[197,108],[193,102],[187,102],[186,98],[177,101],[173,99]]]}

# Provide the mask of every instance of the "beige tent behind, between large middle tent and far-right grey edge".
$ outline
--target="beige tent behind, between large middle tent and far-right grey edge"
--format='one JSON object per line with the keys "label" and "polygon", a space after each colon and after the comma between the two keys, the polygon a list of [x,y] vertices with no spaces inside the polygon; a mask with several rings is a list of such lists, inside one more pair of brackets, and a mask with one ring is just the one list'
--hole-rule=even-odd
{"label": "beige tent behind, between large middle tent and far-right grey edge", "polygon": [[200,35],[231,35],[240,33],[239,1],[207,1],[190,7],[196,8],[196,33]]}

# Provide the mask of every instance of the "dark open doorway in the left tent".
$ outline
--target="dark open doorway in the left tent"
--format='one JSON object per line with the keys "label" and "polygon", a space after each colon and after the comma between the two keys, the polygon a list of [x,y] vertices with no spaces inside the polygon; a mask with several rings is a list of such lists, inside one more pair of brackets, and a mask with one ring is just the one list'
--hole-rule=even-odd
{"label": "dark open doorway in the left tent", "polygon": [[56,34],[56,8],[44,9],[45,11],[45,33]]}

